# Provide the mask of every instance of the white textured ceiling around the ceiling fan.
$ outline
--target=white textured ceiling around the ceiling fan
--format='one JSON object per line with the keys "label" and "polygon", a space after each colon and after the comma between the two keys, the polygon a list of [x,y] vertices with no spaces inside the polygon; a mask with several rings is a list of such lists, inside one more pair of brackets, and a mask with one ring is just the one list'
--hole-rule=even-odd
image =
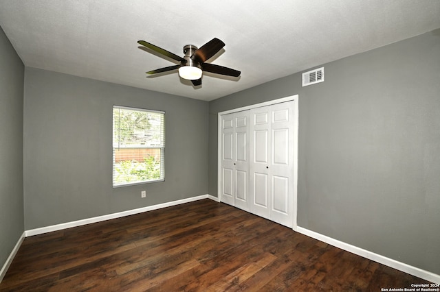
{"label": "white textured ceiling around the ceiling fan", "polygon": [[[440,0],[0,0],[0,25],[25,66],[210,101],[437,29]],[[239,79],[146,77],[175,63],[137,40],[184,56],[214,37],[208,62]]]}

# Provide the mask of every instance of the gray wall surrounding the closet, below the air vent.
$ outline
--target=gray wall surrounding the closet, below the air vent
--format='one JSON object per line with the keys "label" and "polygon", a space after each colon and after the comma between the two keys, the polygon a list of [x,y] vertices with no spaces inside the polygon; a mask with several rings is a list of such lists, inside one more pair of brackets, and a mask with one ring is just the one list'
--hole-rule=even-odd
{"label": "gray wall surrounding the closet, below the air vent", "polygon": [[298,226],[440,274],[440,29],[324,66],[210,102],[210,194],[217,112],[298,94]]}

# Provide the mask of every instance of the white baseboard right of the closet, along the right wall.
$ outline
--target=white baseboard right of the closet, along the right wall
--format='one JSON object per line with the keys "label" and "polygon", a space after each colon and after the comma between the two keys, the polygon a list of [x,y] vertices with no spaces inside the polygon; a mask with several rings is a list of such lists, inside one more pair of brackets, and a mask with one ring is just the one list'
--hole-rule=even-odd
{"label": "white baseboard right of the closet, along the right wall", "polygon": [[370,252],[368,250],[364,250],[360,247],[356,247],[349,243],[344,243],[342,241],[338,241],[337,239],[332,239],[329,236],[320,234],[318,232],[314,232],[308,230],[306,228],[302,228],[297,226],[295,231],[305,234],[307,236],[313,237],[314,239],[318,239],[318,241],[324,241],[325,243],[329,243],[329,245],[333,245],[339,247],[342,250],[347,250],[347,252],[351,252],[353,254],[358,254],[358,256],[362,256],[364,258],[368,258],[370,260],[374,260],[377,263],[381,263],[388,267],[392,267],[394,269],[398,269],[399,271],[403,271],[405,273],[409,273],[412,276],[416,276],[430,282],[434,282],[436,284],[440,284],[440,275],[432,273],[430,271],[425,271],[423,269],[419,269],[418,267],[413,267],[407,265],[406,263],[401,263],[397,260],[393,260],[392,258],[387,258],[386,256],[381,256],[380,254],[375,254],[374,252]]}

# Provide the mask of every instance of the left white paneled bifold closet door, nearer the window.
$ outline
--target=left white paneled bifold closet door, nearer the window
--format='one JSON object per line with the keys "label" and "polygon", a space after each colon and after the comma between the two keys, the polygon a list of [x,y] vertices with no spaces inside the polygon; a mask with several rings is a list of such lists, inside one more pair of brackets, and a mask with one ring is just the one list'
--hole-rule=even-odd
{"label": "left white paneled bifold closet door, nearer the window", "polygon": [[249,110],[221,117],[220,200],[243,210],[249,201]]}

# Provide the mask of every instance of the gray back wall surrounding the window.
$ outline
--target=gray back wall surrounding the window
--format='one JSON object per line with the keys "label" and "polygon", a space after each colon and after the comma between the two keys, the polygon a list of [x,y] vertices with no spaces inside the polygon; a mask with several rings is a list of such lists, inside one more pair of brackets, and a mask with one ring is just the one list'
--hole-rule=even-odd
{"label": "gray back wall surrounding the window", "polygon": [[[166,112],[164,182],[112,188],[113,104]],[[26,67],[26,230],[206,195],[207,173],[208,102]]]}

